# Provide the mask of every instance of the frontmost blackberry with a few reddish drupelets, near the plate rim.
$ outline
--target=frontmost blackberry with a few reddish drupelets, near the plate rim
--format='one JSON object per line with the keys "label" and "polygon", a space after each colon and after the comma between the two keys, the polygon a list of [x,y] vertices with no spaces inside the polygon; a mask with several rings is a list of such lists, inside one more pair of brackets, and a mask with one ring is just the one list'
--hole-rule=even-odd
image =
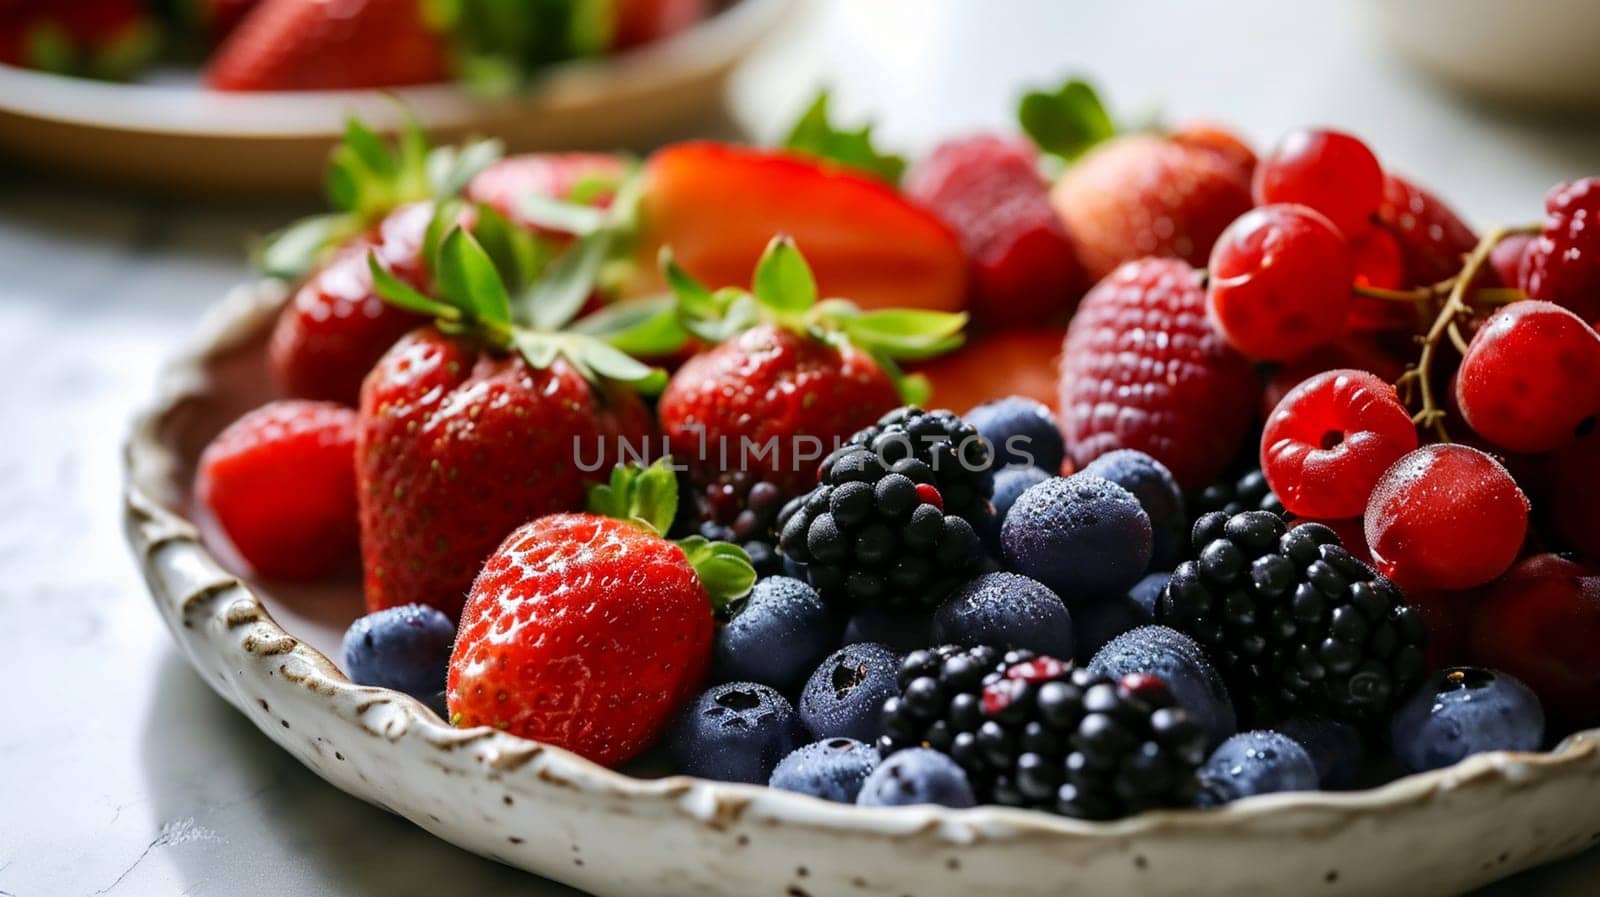
{"label": "frontmost blackberry with a few reddish drupelets, near the plate rim", "polygon": [[880,751],[946,753],[981,803],[1078,819],[1192,806],[1205,732],[1155,676],[1112,680],[1027,651],[906,657]]}

